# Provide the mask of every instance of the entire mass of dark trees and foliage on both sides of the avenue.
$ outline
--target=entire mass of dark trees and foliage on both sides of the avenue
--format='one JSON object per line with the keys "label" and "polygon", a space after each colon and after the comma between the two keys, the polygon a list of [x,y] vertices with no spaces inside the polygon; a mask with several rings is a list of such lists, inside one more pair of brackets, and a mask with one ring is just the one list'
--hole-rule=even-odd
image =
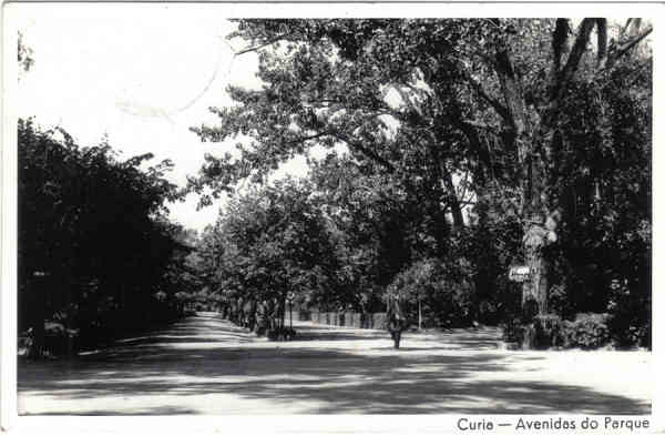
{"label": "entire mass of dark trees and foliage on both sides of the avenue", "polygon": [[[21,328],[57,321],[92,343],[185,301],[247,326],[284,320],[290,295],[328,314],[397,298],[424,326],[502,323],[531,345],[651,346],[649,33],[640,19],[239,20],[229,38],[262,85],[228,87],[218,122],[192,128],[236,142],[190,178],[202,205],[232,197],[201,235],[166,220],[168,161],[23,120]],[[307,176],[273,180],[303,155]],[[508,280],[518,264],[524,284]]]}

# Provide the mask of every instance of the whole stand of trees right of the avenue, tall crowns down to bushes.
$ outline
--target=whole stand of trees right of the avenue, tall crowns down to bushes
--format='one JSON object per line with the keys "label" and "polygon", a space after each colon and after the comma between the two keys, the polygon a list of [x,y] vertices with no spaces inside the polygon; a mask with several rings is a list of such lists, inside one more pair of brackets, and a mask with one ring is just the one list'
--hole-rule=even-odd
{"label": "whole stand of trees right of the avenue, tall crowns down to bushes", "polygon": [[[190,187],[205,204],[328,152],[297,190],[243,195],[208,230],[228,250],[217,271],[234,265],[209,286],[368,307],[408,291],[439,324],[531,302],[563,317],[611,312],[617,335],[642,332],[623,339],[647,341],[652,55],[640,19],[237,24],[237,54],[258,55],[263,85],[229,87],[218,124],[193,129],[238,150],[207,156]],[[299,203],[289,190],[304,190]],[[305,205],[315,221],[291,225]],[[531,270],[521,290],[505,277],[515,263]]]}

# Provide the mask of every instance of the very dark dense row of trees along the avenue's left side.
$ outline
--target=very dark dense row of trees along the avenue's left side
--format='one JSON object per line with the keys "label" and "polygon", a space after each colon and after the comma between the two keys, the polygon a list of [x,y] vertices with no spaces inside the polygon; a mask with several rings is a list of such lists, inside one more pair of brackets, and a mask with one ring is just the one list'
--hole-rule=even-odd
{"label": "very dark dense row of trees along the avenue's left side", "polygon": [[164,178],[171,163],[120,160],[106,141],[81,148],[32,120],[19,120],[18,151],[19,327],[32,328],[33,351],[45,321],[73,351],[177,316],[176,293],[196,277],[193,235],[166,219],[180,195]]}

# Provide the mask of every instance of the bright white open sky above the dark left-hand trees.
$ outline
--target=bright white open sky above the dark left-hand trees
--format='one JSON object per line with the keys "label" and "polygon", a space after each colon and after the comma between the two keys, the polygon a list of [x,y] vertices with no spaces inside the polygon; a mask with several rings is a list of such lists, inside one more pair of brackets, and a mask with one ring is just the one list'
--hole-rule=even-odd
{"label": "bright white open sky above the dark left-hand trees", "polygon": [[[204,154],[223,154],[231,143],[202,143],[190,131],[214,124],[209,107],[231,104],[228,84],[259,87],[254,53],[234,57],[239,41],[225,37],[234,24],[224,6],[11,4],[11,19],[33,51],[34,64],[18,87],[19,116],[43,128],[63,126],[80,145],[108,135],[122,158],[151,152],[171,159],[168,179],[184,186]],[[304,175],[304,159],[280,174]],[[170,205],[171,219],[203,230],[215,221],[222,199],[196,211],[197,197]]]}

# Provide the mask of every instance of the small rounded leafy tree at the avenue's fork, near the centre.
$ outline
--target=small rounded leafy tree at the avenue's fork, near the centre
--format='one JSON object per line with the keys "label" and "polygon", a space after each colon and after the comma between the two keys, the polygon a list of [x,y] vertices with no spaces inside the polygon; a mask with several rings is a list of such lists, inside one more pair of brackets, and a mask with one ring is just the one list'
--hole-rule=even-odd
{"label": "small rounded leafy tree at the avenue's fork, near the centre", "polygon": [[307,183],[286,179],[234,199],[201,240],[206,277],[231,301],[329,303],[337,263],[328,226]]}

